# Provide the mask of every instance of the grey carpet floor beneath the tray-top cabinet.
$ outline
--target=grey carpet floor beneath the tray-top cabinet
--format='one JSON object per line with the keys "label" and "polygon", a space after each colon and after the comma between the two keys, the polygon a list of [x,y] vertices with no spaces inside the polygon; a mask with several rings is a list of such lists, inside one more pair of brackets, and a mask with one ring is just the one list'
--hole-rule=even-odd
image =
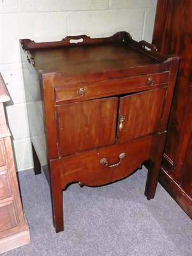
{"label": "grey carpet floor beneath the tray-top cabinet", "polygon": [[64,191],[64,232],[52,225],[44,173],[19,173],[31,243],[3,256],[191,256],[192,221],[158,184],[144,196],[147,170],[99,188]]}

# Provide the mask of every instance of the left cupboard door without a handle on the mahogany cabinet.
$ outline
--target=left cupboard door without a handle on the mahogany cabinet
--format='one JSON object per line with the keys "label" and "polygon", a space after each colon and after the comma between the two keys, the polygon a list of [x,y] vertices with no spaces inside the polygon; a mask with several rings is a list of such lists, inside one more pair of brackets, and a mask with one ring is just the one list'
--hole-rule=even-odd
{"label": "left cupboard door without a handle on the mahogany cabinet", "polygon": [[59,156],[114,144],[117,105],[112,97],[56,106]]}

